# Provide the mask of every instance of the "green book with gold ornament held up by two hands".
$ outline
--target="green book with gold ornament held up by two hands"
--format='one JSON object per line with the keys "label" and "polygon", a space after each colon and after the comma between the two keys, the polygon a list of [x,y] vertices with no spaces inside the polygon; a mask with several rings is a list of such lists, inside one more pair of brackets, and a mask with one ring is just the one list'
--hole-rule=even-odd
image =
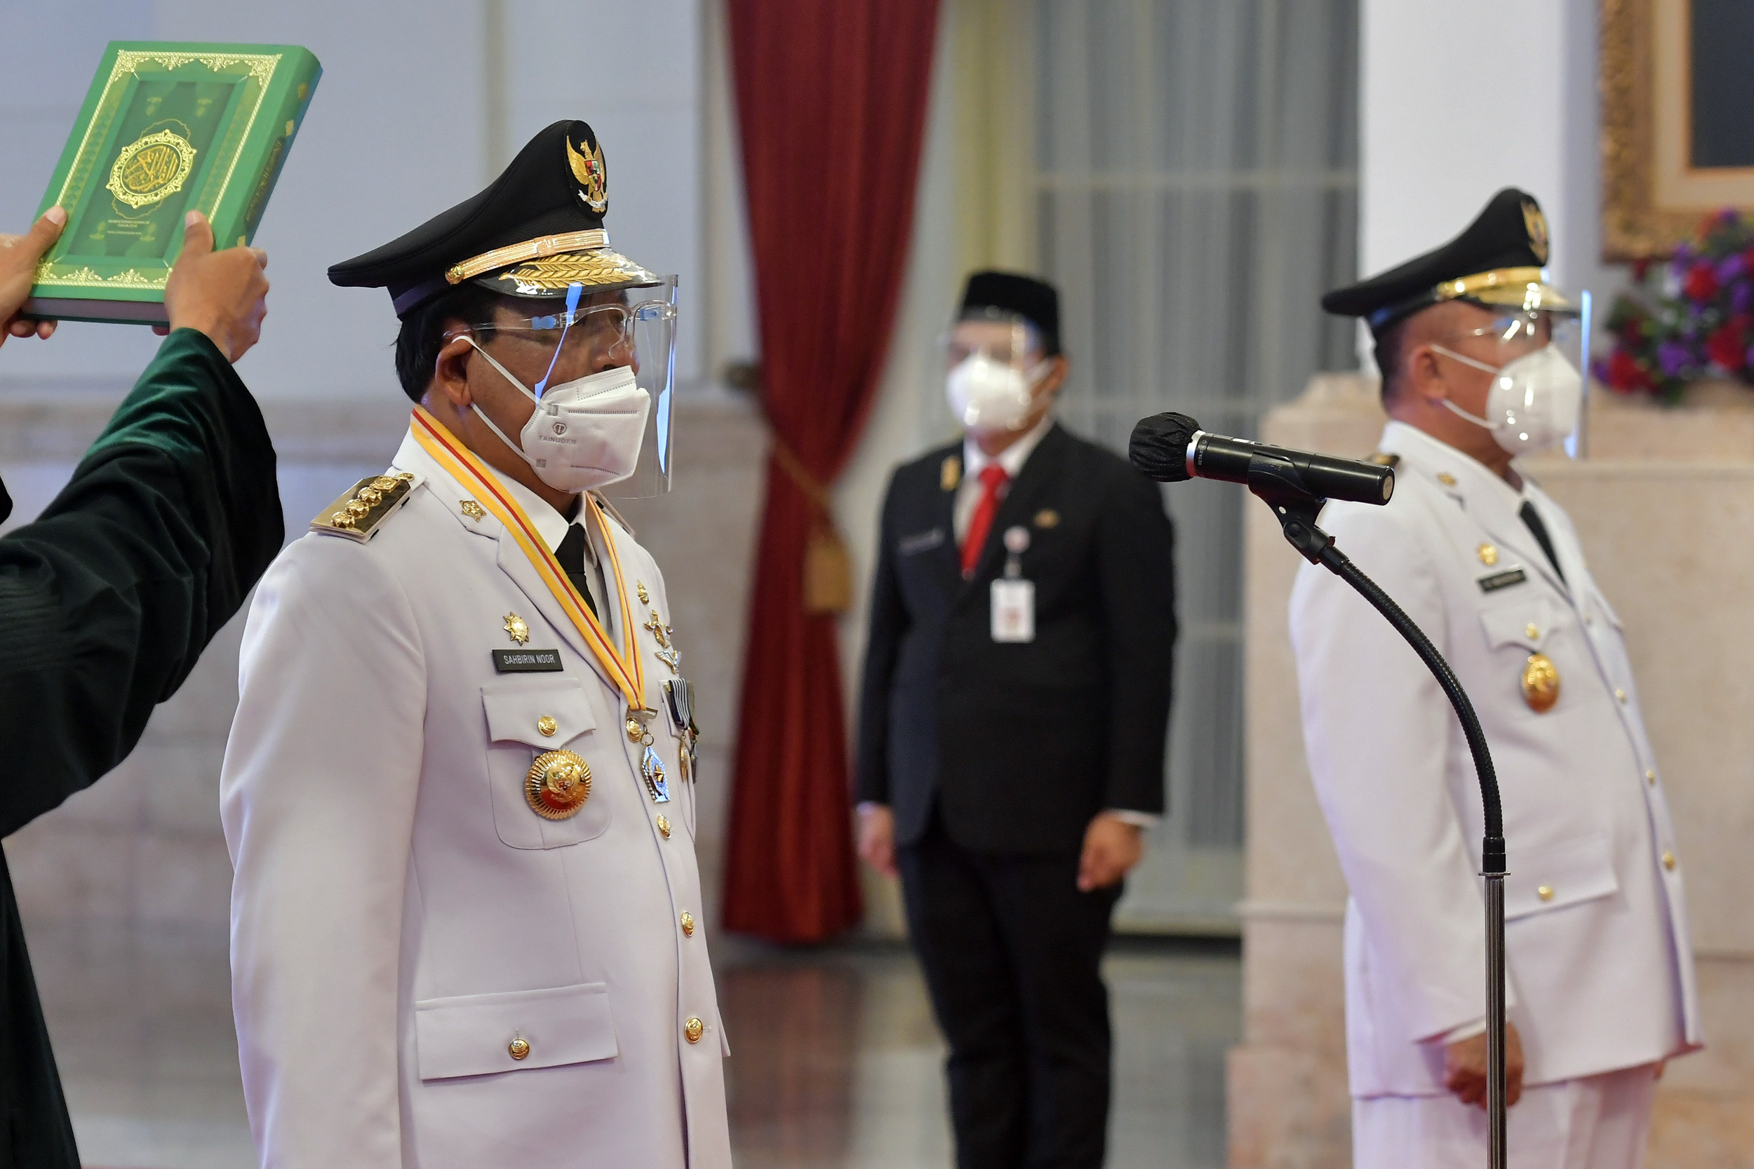
{"label": "green book with gold ornament held up by two hands", "polygon": [[298,46],[112,40],[37,209],[67,228],[25,315],[163,324],[182,217],[254,238],[321,75]]}

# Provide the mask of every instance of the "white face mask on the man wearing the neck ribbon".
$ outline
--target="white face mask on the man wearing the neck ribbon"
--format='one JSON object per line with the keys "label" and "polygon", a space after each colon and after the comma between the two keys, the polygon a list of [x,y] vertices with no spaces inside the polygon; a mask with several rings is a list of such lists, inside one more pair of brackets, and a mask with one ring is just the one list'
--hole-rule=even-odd
{"label": "white face mask on the man wearing the neck ribbon", "polygon": [[[463,335],[475,345],[475,338]],[[579,377],[560,386],[549,386],[537,398],[528,386],[507,372],[481,345],[475,352],[488,359],[500,375],[516,386],[524,398],[537,403],[537,412],[524,422],[519,435],[523,445],[505,438],[479,405],[470,408],[481,415],[505,445],[523,456],[537,471],[537,478],[568,494],[619,482],[633,473],[640,461],[640,440],[645,436],[645,414],[652,400],[631,366],[616,366],[589,377]]]}

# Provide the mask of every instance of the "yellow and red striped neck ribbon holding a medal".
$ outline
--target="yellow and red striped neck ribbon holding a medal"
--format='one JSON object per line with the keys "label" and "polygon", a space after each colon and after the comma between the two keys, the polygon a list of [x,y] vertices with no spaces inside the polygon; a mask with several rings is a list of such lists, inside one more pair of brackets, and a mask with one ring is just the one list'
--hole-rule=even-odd
{"label": "yellow and red striped neck ribbon holding a medal", "polygon": [[603,633],[603,626],[598,624],[596,615],[579,601],[579,592],[567,580],[567,573],[561,571],[560,561],[554,559],[554,552],[549,550],[547,542],[537,533],[535,524],[524,515],[524,510],[517,507],[510,492],[500,487],[493,471],[475,456],[474,450],[465,447],[456,440],[456,435],[447,431],[438,424],[424,407],[414,407],[414,421],[409,424],[414,442],[421,443],[421,449],[430,454],[438,466],[449,471],[467,491],[470,491],[475,499],[481,501],[493,517],[498,519],[505,531],[512,535],[517,547],[524,550],[530,563],[535,566],[537,575],[542,577],[542,584],[547,585],[554,599],[560,601],[561,610],[572,619],[572,624],[579,629],[579,636],[584,643],[591,647],[596,661],[602,662],[603,673],[616,684],[621,696],[628,699],[631,710],[644,710],[645,701],[645,675],[640,668],[640,655],[633,643],[633,610],[628,606],[628,591],[621,582],[621,556],[616,552],[616,540],[609,531],[598,508],[586,501],[584,510],[589,514],[591,521],[602,528],[603,547],[609,549],[609,564],[616,573],[616,596],[621,599],[621,636],[623,648],[617,654],[616,647],[609,641],[609,634]]}

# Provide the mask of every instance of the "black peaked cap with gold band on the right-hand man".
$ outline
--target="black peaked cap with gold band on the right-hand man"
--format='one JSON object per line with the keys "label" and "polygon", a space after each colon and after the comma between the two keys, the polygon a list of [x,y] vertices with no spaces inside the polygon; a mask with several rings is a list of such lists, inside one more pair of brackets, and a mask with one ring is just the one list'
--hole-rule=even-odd
{"label": "black peaked cap with gold band on the right-hand man", "polygon": [[1572,312],[1572,301],[1547,284],[1545,265],[1547,216],[1533,195],[1505,188],[1449,244],[1337,287],[1321,298],[1321,307],[1342,317],[1365,317],[1372,333],[1447,300]]}

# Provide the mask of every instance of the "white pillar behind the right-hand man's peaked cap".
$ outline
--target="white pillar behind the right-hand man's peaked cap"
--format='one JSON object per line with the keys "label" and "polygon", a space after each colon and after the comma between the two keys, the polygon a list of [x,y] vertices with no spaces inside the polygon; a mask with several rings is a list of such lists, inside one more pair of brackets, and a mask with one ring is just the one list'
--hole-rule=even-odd
{"label": "white pillar behind the right-hand man's peaked cap", "polygon": [[1554,279],[1607,307],[1594,0],[1361,0],[1359,272],[1458,235],[1494,191],[1540,200]]}

